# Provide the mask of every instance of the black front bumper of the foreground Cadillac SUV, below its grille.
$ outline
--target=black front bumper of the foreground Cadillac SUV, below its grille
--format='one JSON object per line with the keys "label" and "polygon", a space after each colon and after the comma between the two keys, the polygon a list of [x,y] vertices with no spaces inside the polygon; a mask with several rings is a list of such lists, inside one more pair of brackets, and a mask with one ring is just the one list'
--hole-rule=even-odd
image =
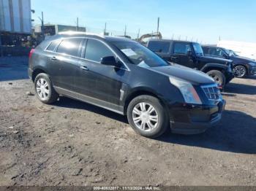
{"label": "black front bumper of the foreground Cadillac SUV, below its grille", "polygon": [[226,102],[219,101],[216,105],[176,104],[169,108],[171,130],[179,134],[203,133],[222,118]]}

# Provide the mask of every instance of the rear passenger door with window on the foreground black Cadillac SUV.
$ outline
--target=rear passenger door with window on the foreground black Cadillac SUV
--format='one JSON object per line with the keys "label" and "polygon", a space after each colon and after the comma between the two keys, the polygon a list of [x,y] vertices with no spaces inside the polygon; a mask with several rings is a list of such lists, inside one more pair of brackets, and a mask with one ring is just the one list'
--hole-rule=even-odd
{"label": "rear passenger door with window on the foreground black Cadillac SUV", "polygon": [[51,54],[49,69],[53,85],[66,90],[74,90],[83,40],[83,38],[63,39],[56,47],[56,52]]}

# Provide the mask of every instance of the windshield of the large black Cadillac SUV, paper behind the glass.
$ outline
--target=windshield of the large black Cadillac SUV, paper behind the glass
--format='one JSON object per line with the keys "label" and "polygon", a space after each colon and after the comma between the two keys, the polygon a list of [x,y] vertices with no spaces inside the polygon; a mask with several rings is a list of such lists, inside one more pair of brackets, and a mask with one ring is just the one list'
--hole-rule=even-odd
{"label": "windshield of the large black Cadillac SUV, paper behind the glass", "polygon": [[144,68],[168,66],[162,58],[137,42],[112,42],[133,64]]}

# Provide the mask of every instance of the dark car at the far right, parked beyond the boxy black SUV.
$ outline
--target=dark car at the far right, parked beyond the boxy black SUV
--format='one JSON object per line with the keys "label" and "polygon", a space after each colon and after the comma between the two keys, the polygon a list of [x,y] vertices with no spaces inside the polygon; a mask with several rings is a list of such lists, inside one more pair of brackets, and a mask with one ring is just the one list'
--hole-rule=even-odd
{"label": "dark car at the far right, parked beyond the boxy black SUV", "polygon": [[250,58],[241,57],[233,52],[222,47],[203,46],[205,55],[226,58],[233,61],[233,71],[236,77],[245,77],[246,75],[256,74],[256,62]]}

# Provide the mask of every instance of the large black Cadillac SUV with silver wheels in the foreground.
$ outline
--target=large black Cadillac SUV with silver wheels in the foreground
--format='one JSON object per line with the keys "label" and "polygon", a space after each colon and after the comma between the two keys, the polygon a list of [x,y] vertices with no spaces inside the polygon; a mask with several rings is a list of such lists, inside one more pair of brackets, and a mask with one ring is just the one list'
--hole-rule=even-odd
{"label": "large black Cadillac SUV with silver wheels in the foreground", "polygon": [[45,40],[29,55],[37,97],[59,95],[127,115],[132,128],[156,137],[202,133],[222,117],[225,101],[211,77],[170,66],[138,42],[69,32]]}

